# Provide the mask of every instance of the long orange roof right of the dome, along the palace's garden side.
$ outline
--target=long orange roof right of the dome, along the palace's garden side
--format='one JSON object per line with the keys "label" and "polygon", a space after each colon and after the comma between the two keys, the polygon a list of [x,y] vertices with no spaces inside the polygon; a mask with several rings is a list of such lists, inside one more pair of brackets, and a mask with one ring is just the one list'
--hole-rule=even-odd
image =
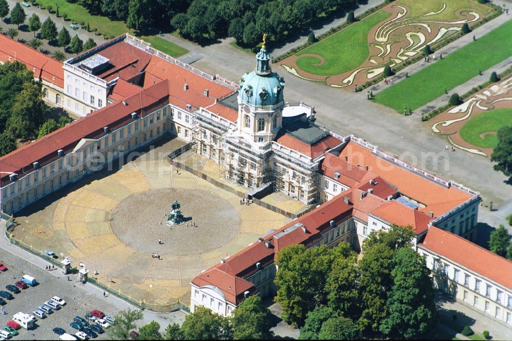
{"label": "long orange roof right of the dome, along the palace's garden side", "polygon": [[352,164],[369,166],[369,171],[392,183],[400,193],[423,203],[426,207],[420,207],[424,212],[433,211],[434,217],[446,213],[450,209],[469,200],[472,196],[457,188],[445,188],[437,183],[422,178],[395,164],[389,163],[376,155],[373,155],[367,148],[350,141],[341,151],[339,158],[345,159]]}

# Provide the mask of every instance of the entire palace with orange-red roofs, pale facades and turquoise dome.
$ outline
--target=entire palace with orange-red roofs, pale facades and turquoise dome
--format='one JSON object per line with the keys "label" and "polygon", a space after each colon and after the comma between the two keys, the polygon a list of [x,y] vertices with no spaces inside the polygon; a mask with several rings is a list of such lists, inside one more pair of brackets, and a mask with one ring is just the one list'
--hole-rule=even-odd
{"label": "entire palace with orange-red roofs, pale facades and turquoise dome", "polygon": [[166,133],[193,142],[234,182],[319,204],[198,274],[192,311],[203,305],[229,315],[247,295],[270,294],[275,255],[288,245],[347,241],[360,250],[369,233],[398,224],[415,230],[414,247],[437,287],[512,324],[512,263],[471,242],[478,192],[315,125],[313,107],[285,102],[285,81],[272,71],[265,46],[239,83],[129,34],[64,63],[0,35],[0,60],[25,63],[48,102],[82,116],[0,158],[0,208],[7,214]]}

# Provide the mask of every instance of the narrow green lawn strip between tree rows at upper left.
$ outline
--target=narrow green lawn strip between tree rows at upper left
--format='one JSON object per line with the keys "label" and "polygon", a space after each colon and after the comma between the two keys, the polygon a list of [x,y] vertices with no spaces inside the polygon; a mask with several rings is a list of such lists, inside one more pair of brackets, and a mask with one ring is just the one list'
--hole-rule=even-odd
{"label": "narrow green lawn strip between tree rows at upper left", "polygon": [[[45,7],[52,6],[52,11],[55,11],[55,4],[57,4],[60,15],[64,13],[68,14],[68,18],[73,20],[75,23],[84,22],[86,25],[89,23],[89,27],[91,29],[97,28],[99,33],[108,37],[118,36],[125,32],[134,34],[134,31],[127,28],[126,24],[123,22],[111,20],[106,16],[92,15],[82,6],[78,4],[70,4],[66,0],[37,0],[37,3]],[[68,30],[70,30],[71,35],[73,35],[73,30],[69,27]],[[188,50],[158,36],[142,36],[141,39],[150,42],[155,49],[173,57],[179,57],[188,52]]]}

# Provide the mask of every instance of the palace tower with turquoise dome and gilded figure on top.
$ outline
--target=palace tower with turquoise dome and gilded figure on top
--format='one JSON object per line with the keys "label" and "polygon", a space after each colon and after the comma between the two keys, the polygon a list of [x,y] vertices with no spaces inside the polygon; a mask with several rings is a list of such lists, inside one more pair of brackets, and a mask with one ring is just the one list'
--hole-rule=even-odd
{"label": "palace tower with turquoise dome and gilded figure on top", "polygon": [[238,133],[254,143],[273,140],[282,127],[285,81],[270,68],[266,37],[264,34],[254,71],[240,79],[238,95]]}

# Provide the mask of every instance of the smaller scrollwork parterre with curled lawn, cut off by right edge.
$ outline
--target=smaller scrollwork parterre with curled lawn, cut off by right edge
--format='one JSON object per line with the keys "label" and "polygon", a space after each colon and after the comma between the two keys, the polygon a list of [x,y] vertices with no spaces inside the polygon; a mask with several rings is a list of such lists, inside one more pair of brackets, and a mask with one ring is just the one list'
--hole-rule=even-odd
{"label": "smaller scrollwork parterre with curled lawn, cut off by right edge", "polygon": [[490,156],[498,143],[498,129],[512,125],[512,76],[467,97],[425,124],[462,150]]}

